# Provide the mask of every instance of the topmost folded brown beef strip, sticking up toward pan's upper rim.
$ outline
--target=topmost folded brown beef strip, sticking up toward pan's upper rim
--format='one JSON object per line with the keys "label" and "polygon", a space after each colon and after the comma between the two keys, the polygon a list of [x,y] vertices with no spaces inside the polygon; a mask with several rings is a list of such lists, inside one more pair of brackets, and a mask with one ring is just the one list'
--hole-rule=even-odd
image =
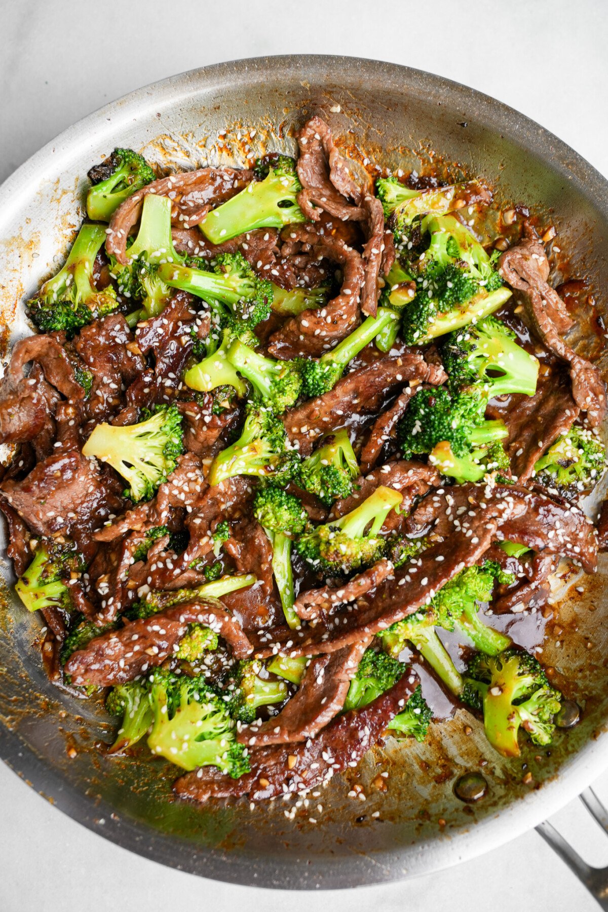
{"label": "topmost folded brown beef strip, sticking up toward pan's upper rim", "polygon": [[[314,116],[297,134],[300,155],[297,172],[302,184],[298,205],[304,215],[316,222],[321,212],[344,221],[361,221],[363,192],[350,176],[348,166],[335,148],[332,131]],[[351,197],[356,205],[347,202]]]}

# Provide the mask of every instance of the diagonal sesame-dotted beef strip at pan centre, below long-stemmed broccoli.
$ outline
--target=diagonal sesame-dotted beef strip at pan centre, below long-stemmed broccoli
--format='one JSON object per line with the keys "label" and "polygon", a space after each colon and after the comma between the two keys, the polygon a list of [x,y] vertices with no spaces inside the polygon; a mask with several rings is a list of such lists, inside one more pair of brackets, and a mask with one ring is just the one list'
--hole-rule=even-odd
{"label": "diagonal sesame-dotted beef strip at pan centre, below long-stemmed broccoli", "polygon": [[377,414],[392,389],[413,379],[437,386],[445,381],[446,372],[417,352],[378,358],[346,374],[323,396],[288,409],[283,416],[287,436],[301,455],[308,456],[323,434],[347,425],[353,415]]}

